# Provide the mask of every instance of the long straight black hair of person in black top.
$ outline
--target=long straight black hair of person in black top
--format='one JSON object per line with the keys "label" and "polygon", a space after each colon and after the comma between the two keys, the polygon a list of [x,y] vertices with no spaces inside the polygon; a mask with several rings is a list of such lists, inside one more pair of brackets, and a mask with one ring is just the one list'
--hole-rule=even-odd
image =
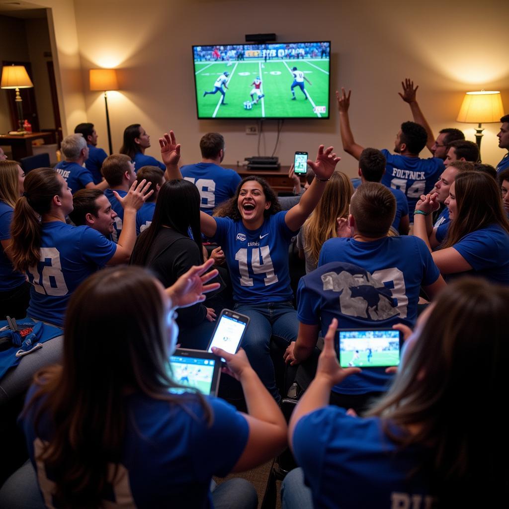
{"label": "long straight black hair of person in black top", "polygon": [[202,233],[200,230],[200,191],[184,179],[168,180],[157,195],[154,217],[150,226],[139,234],[131,256],[131,264],[145,266],[150,247],[160,230],[169,227],[186,237],[191,229],[194,242],[203,261]]}

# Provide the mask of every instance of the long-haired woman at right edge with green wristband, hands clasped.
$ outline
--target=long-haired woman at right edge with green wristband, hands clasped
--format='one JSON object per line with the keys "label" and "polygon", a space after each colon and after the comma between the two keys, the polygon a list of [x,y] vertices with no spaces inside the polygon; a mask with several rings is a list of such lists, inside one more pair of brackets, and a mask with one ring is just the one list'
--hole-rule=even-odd
{"label": "long-haired woman at right edge with green wristband, hands clasped", "polygon": [[[449,222],[431,228],[436,193],[422,196],[415,208],[414,235],[433,251],[442,274],[466,273],[509,285],[509,220],[495,180],[483,172],[458,175],[445,201]],[[431,232],[431,234],[429,234]]]}

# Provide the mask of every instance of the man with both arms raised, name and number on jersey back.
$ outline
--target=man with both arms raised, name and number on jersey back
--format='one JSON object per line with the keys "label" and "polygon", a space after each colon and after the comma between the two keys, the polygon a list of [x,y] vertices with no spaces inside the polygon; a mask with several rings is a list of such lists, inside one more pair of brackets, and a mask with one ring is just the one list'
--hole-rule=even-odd
{"label": "man with both arms raised, name and number on jersey back", "polygon": [[[337,106],[340,111],[340,129],[343,149],[350,155],[359,159],[364,150],[354,140],[350,129],[348,108],[350,107],[350,95],[336,92]],[[405,193],[410,211],[410,222],[413,222],[413,210],[421,194],[427,194],[433,189],[438,175],[444,168],[443,161],[436,157],[421,159],[420,151],[426,147],[428,135],[426,129],[415,122],[403,122],[401,129],[396,135],[394,152],[391,154],[383,149],[381,152],[386,159],[385,173],[382,184],[393,189],[400,189]]]}

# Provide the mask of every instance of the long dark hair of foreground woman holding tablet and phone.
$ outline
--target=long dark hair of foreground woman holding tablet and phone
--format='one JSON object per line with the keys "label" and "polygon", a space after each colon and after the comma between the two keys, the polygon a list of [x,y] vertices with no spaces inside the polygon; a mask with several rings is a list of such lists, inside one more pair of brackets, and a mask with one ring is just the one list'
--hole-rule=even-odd
{"label": "long dark hair of foreground woman holding tablet and phone", "polygon": [[[101,506],[111,482],[109,465],[118,466],[122,457],[126,391],[184,409],[197,398],[210,423],[210,409],[199,393],[168,392],[179,385],[168,375],[166,315],[156,280],[139,267],[97,272],[72,295],[63,366],[36,375],[39,389],[27,405],[42,398],[36,433],[43,415],[54,423],[51,441],[37,459],[53,472],[59,506]],[[116,476],[117,471],[113,483]]]}

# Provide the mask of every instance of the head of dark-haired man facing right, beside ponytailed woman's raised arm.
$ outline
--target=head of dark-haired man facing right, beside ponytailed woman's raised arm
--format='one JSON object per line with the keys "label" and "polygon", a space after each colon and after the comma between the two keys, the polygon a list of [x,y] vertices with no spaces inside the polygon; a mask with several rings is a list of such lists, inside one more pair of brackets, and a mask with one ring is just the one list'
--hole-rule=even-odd
{"label": "head of dark-haired man facing right, beside ponytailed woman's raised arm", "polygon": [[111,237],[117,213],[100,189],[80,189],[73,194],[72,203],[69,217],[76,226],[89,226],[108,239]]}

